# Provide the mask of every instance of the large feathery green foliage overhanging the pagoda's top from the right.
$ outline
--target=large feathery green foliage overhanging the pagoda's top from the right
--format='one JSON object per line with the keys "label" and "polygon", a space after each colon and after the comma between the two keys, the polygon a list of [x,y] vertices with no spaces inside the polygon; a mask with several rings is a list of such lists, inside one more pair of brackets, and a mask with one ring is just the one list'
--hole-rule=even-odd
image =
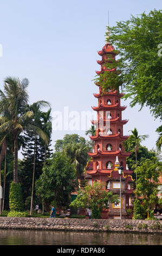
{"label": "large feathery green foliage overhanging the pagoda's top from the right", "polygon": [[[150,107],[155,118],[162,118],[162,12],[131,15],[127,21],[116,22],[109,28],[108,41],[119,52],[118,69],[125,99],[131,99],[131,107]],[[113,81],[112,84],[113,88]],[[119,88],[120,84],[118,84]]]}

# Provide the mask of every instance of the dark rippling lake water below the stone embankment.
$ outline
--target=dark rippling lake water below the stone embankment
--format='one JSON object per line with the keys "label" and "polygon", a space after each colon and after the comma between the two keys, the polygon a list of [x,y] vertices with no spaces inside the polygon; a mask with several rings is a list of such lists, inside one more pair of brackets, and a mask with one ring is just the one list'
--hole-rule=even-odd
{"label": "dark rippling lake water below the stone embankment", "polygon": [[162,234],[1,229],[0,245],[162,245]]}

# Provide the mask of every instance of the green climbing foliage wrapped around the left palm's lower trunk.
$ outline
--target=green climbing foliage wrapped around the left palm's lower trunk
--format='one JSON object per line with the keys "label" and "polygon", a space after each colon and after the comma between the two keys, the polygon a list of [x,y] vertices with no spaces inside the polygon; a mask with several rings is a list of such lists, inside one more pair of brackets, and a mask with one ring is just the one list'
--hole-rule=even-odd
{"label": "green climbing foliage wrapped around the left palm's lower trunk", "polygon": [[10,185],[9,207],[11,211],[24,210],[21,184],[14,183],[14,181]]}

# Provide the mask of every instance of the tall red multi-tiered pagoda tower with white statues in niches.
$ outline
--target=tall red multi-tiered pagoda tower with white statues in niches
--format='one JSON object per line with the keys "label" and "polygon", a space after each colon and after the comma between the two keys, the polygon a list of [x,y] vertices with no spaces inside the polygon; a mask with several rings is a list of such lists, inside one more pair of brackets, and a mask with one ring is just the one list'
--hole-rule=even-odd
{"label": "tall red multi-tiered pagoda tower with white statues in niches", "polygon": [[[108,56],[115,60],[114,47],[110,43],[103,46],[102,51],[98,51],[102,60],[98,60],[101,65],[101,70],[96,71],[100,75],[105,71],[115,72],[115,69],[108,70],[105,62]],[[90,136],[94,142],[93,152],[88,152],[92,160],[86,166],[86,172],[90,175],[90,182],[99,181],[106,183],[106,190],[113,191],[114,194],[119,194],[120,197],[120,176],[118,174],[118,167],[121,165],[124,172],[121,176],[121,208],[122,218],[126,217],[126,208],[131,205],[131,196],[133,194],[133,180],[130,174],[133,171],[128,170],[126,164],[126,157],[130,153],[126,153],[123,142],[128,136],[123,135],[123,125],[128,120],[122,120],[122,111],[126,109],[125,106],[120,105],[120,98],[124,95],[118,93],[116,90],[109,89],[108,92],[103,93],[99,86],[99,93],[94,94],[98,99],[98,106],[92,107],[97,112],[97,120],[93,120],[92,124],[96,127],[95,136]],[[120,204],[109,205],[109,210],[102,212],[102,218],[120,218]]]}

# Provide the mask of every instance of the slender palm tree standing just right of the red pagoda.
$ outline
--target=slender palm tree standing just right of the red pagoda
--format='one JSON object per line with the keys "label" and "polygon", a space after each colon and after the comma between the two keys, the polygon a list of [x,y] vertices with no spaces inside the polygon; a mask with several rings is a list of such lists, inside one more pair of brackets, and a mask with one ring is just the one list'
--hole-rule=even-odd
{"label": "slender palm tree standing just right of the red pagoda", "polygon": [[[139,146],[141,141],[145,141],[146,138],[148,138],[148,135],[139,135],[137,128],[134,128],[134,130],[130,130],[132,132],[132,138],[135,143],[134,146],[134,151],[135,151],[135,167],[137,169],[137,154],[139,150]],[[136,189],[137,189],[137,172],[136,172]],[[137,194],[137,199],[138,199],[138,194]]]}

